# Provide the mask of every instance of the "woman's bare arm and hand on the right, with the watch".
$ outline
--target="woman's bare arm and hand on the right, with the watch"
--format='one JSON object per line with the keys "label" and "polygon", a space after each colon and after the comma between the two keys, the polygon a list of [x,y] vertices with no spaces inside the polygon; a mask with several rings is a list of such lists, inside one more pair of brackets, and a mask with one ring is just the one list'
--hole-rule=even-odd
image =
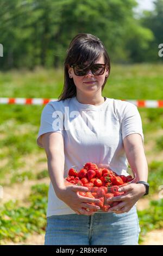
{"label": "woman's bare arm and hand on the right, with the watch", "polygon": [[[148,179],[148,165],[143,148],[141,135],[134,133],[128,135],[123,140],[126,156],[133,173],[136,175],[137,181]],[[114,211],[117,214],[128,212],[134,204],[146,192],[143,184],[129,184],[121,188],[121,192],[125,192],[122,196],[111,198],[108,201],[119,201],[120,203],[109,211]]]}

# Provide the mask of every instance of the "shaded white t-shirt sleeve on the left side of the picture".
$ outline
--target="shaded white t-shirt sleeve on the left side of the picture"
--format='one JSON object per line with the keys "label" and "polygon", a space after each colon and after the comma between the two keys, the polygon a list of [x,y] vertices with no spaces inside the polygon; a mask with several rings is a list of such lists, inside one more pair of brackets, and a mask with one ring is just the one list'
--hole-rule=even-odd
{"label": "shaded white t-shirt sleeve on the left side of the picture", "polygon": [[59,132],[64,136],[64,116],[55,108],[54,103],[47,103],[41,113],[40,129],[37,135],[37,145],[43,148],[41,135],[47,132]]}

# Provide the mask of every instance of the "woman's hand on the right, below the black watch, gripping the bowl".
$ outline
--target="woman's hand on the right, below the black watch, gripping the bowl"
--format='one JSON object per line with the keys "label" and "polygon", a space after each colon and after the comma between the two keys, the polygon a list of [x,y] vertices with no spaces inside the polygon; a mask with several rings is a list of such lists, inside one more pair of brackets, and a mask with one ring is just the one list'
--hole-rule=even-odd
{"label": "woman's hand on the right, below the black watch, gripping the bowl", "polygon": [[135,203],[145,194],[146,188],[143,184],[130,184],[121,187],[120,192],[125,192],[122,196],[112,197],[108,199],[109,202],[120,202],[116,206],[112,206],[108,212],[115,212],[116,214],[123,214],[128,212]]}

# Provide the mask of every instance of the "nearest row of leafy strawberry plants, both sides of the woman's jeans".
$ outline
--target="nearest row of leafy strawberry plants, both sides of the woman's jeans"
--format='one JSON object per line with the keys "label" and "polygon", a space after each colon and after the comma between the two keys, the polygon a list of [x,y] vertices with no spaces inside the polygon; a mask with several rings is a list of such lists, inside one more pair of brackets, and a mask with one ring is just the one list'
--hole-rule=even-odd
{"label": "nearest row of leafy strawberry plants, both sides of the woman's jeans", "polygon": [[[46,228],[46,209],[48,185],[32,186],[28,197],[28,207],[11,200],[0,208],[0,244],[7,241],[23,242],[34,232],[44,234]],[[138,211],[141,228],[141,243],[148,231],[163,228],[163,199],[152,200],[148,209]]]}

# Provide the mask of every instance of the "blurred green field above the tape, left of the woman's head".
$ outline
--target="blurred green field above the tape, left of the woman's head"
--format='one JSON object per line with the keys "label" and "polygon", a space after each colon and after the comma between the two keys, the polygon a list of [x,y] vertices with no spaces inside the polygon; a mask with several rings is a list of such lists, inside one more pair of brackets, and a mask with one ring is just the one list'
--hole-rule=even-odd
{"label": "blurred green field above the tape, left of the woman's head", "polygon": [[61,70],[0,72],[1,97],[57,97],[63,81]]}

